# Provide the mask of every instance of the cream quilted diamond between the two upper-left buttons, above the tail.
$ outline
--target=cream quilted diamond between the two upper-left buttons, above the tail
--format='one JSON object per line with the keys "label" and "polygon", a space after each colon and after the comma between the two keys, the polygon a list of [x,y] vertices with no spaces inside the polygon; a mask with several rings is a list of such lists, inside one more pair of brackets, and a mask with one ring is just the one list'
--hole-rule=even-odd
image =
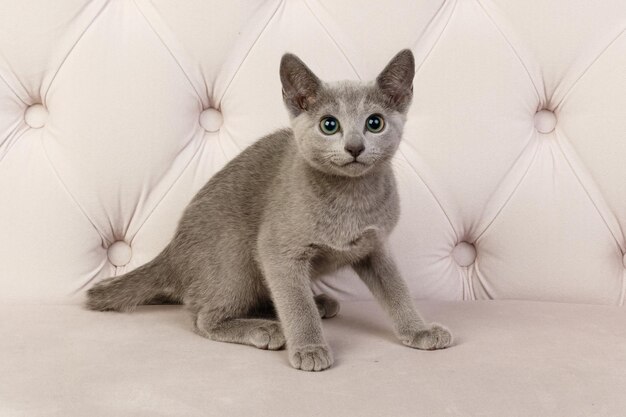
{"label": "cream quilted diamond between the two upper-left buttons, above the tail", "polygon": [[132,240],[204,133],[195,91],[132,2],[111,3],[84,33],[47,106],[46,153],[108,242]]}

